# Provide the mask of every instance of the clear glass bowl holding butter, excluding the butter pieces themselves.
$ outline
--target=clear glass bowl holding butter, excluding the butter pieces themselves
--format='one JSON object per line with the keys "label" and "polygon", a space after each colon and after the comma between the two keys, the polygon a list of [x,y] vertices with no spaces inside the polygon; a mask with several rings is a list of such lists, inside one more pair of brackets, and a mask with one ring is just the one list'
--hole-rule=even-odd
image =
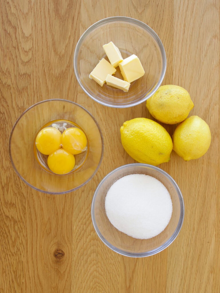
{"label": "clear glass bowl holding butter, excluding the butter pieces themselves", "polygon": [[[137,55],[144,68],[144,76],[133,81],[128,92],[106,83],[101,87],[89,78],[99,60],[108,60],[102,46],[110,41],[124,59]],[[123,79],[119,67],[116,69],[114,76]],[[156,92],[165,75],[166,54],[158,35],[145,23],[124,16],[109,17],[91,25],[79,39],[74,71],[81,88],[93,100],[109,107],[126,108],[144,102]]]}

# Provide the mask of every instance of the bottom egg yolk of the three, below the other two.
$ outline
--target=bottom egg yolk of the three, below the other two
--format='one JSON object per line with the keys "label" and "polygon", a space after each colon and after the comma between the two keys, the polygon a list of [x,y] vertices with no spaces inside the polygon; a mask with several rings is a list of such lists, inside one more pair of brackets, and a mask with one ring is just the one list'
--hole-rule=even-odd
{"label": "bottom egg yolk of the three, below the other two", "polygon": [[68,151],[58,149],[48,156],[47,164],[53,173],[66,174],[73,170],[75,158]]}

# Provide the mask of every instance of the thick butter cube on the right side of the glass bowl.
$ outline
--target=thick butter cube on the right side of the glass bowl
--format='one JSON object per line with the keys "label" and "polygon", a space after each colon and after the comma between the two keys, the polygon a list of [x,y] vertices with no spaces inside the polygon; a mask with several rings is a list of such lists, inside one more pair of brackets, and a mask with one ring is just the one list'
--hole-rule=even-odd
{"label": "thick butter cube on the right side of the glass bowl", "polygon": [[145,73],[139,58],[134,54],[122,60],[118,65],[124,80],[130,83]]}

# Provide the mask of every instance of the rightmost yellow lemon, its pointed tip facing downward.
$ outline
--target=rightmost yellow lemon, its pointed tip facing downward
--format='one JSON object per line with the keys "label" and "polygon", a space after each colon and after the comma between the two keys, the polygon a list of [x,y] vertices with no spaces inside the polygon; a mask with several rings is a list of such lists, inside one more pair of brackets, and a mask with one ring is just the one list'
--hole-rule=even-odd
{"label": "rightmost yellow lemon, its pointed tip facing downward", "polygon": [[173,150],[185,161],[198,159],[209,149],[209,125],[198,116],[191,116],[180,123],[173,133]]}

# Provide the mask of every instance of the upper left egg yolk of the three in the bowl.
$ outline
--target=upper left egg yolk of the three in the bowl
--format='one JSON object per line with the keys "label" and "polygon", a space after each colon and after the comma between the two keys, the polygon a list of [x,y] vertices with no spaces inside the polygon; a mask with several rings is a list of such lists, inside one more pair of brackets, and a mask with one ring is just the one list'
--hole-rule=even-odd
{"label": "upper left egg yolk of the three in the bowl", "polygon": [[44,155],[49,155],[61,147],[61,132],[54,127],[45,127],[37,134],[36,148]]}

